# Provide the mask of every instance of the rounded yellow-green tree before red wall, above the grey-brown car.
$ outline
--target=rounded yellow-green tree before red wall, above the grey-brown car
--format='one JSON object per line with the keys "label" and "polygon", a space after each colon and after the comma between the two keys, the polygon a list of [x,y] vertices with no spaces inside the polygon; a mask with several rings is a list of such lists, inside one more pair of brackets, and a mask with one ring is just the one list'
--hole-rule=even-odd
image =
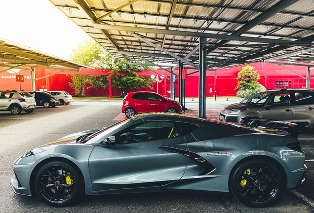
{"label": "rounded yellow-green tree before red wall, above the grey-brown car", "polygon": [[260,79],[260,74],[254,70],[252,66],[242,67],[242,71],[237,74],[237,86],[236,86],[236,96],[240,98],[246,98],[254,93],[266,90],[264,86],[257,83]]}

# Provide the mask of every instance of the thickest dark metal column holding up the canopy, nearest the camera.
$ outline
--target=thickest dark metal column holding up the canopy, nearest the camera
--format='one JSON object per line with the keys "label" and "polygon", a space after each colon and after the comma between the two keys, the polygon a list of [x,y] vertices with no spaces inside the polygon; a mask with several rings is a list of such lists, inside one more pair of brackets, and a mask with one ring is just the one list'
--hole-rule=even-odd
{"label": "thickest dark metal column holding up the canopy, nearest the camera", "polygon": [[206,38],[199,38],[198,117],[206,118]]}

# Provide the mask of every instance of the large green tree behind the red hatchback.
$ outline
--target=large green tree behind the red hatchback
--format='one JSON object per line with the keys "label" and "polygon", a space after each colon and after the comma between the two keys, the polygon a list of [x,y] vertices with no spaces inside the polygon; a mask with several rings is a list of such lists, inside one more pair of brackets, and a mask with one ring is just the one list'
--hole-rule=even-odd
{"label": "large green tree behind the red hatchback", "polygon": [[[141,63],[141,62],[137,62]],[[110,73],[112,79],[112,86],[121,89],[120,97],[125,96],[126,89],[141,89],[145,87],[152,88],[151,84],[153,80],[150,76],[139,76],[135,71],[144,71],[145,69],[140,65],[130,65],[125,60],[119,60],[110,53],[108,53],[103,60],[103,63],[99,67],[103,70],[107,70]],[[149,69],[152,69],[149,67]],[[126,75],[118,75],[119,72],[124,72]],[[92,80],[92,87],[108,88],[109,76],[99,75],[95,76]]]}

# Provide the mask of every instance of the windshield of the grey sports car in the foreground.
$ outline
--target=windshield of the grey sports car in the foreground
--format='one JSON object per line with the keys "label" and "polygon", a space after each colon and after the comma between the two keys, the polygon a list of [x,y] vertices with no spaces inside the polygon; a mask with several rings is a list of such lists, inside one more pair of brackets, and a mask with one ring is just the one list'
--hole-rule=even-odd
{"label": "windshield of the grey sports car in the foreground", "polygon": [[112,133],[115,132],[115,130],[119,129],[121,126],[132,122],[132,118],[127,118],[125,120],[122,120],[116,124],[113,124],[105,129],[99,130],[98,132],[95,132],[91,136],[87,137],[82,143],[88,142],[88,143],[99,143],[98,140],[100,138],[103,138],[103,136],[108,135],[111,136],[113,135]]}

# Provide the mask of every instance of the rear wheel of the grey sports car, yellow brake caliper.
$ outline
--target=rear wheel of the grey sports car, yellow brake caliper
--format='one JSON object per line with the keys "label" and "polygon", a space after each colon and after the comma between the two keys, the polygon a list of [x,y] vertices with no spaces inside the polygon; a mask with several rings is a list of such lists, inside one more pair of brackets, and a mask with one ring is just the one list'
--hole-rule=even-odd
{"label": "rear wheel of the grey sports car, yellow brake caliper", "polygon": [[264,207],[275,201],[283,187],[276,166],[264,158],[244,161],[232,171],[230,188],[241,203],[250,207]]}

